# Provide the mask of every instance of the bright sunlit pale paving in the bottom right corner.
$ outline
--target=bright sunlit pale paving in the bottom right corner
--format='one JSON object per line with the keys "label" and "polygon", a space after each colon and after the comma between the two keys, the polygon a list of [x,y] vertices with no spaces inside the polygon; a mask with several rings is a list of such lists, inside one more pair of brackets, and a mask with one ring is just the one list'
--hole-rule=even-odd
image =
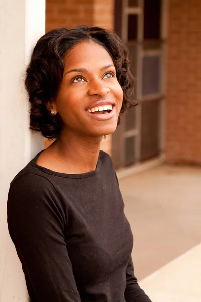
{"label": "bright sunlit pale paving in the bottom right corner", "polygon": [[201,244],[140,282],[152,302],[201,301]]}

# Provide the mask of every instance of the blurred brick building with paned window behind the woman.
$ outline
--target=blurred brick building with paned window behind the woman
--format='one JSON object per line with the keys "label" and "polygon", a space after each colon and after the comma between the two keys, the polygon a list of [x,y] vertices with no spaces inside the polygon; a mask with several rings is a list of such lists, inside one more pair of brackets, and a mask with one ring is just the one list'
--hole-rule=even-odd
{"label": "blurred brick building with paned window behind the woman", "polygon": [[46,0],[46,32],[104,26],[129,49],[139,104],[103,141],[115,168],[164,154],[169,163],[201,163],[200,15],[199,0]]}

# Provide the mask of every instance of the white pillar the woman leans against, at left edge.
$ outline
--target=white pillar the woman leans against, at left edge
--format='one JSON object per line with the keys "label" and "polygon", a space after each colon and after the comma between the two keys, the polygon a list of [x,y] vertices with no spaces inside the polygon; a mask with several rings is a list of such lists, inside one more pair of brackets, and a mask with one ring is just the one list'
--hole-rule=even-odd
{"label": "white pillar the woman leans against, at left edge", "polygon": [[0,301],[28,301],[24,275],[7,228],[11,180],[43,148],[29,131],[23,78],[31,50],[45,33],[45,0],[0,0]]}

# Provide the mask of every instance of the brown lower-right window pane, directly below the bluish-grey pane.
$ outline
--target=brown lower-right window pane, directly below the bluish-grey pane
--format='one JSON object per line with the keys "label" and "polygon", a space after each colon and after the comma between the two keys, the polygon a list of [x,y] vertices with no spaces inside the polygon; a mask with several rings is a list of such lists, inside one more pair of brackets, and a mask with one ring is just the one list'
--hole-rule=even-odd
{"label": "brown lower-right window pane, directly below the bluish-grey pane", "polygon": [[159,100],[142,102],[141,161],[159,154]]}

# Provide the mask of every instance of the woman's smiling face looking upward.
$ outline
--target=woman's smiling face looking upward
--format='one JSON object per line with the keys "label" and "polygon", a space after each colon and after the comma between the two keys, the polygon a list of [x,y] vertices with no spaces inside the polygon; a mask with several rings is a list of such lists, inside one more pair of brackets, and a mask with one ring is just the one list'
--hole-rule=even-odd
{"label": "woman's smiling face looking upward", "polygon": [[113,60],[99,44],[82,42],[64,58],[64,74],[54,109],[71,134],[111,134],[123,100]]}

